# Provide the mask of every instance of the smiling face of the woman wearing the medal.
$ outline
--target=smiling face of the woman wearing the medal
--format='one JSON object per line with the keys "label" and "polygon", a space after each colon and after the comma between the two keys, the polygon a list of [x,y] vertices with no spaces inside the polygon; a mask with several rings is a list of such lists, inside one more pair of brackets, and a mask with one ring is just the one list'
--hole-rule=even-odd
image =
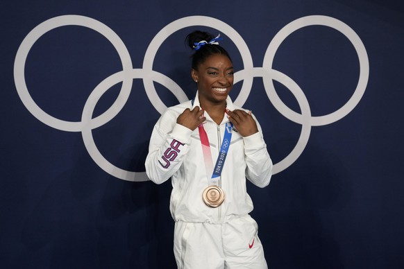
{"label": "smiling face of the woman wearing the medal", "polygon": [[200,101],[224,102],[233,88],[233,64],[226,55],[210,55],[191,76],[198,81]]}

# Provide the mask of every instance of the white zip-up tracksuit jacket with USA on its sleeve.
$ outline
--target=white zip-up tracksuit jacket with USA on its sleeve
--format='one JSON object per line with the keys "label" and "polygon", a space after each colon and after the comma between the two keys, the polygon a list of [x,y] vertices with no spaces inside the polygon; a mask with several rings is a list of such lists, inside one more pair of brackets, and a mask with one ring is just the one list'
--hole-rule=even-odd
{"label": "white zip-up tracksuit jacket with USA on its sleeve", "polygon": [[[230,97],[226,100],[230,111],[241,109],[233,104]],[[202,200],[203,190],[208,186],[212,174],[206,175],[205,163],[198,128],[192,131],[176,123],[178,116],[186,108],[192,109],[199,104],[198,92],[192,101],[169,107],[162,114],[153,128],[146,157],[146,173],[149,179],[160,184],[171,177],[170,211],[174,220],[191,223],[226,223],[232,218],[249,214],[253,202],[246,192],[246,178],[259,187],[264,187],[271,180],[272,161],[267,152],[267,145],[262,137],[262,130],[249,137],[242,137],[233,131],[226,162],[221,173],[219,186],[224,190],[224,203],[212,208]],[[212,162],[216,163],[224,137],[225,114],[223,121],[217,125],[207,112],[204,128],[208,134]]]}

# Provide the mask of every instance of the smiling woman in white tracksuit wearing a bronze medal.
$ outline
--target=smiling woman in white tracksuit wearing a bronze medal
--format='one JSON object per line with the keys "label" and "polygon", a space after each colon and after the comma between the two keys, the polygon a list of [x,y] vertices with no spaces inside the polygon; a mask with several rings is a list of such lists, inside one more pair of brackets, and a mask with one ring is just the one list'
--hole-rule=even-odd
{"label": "smiling woman in white tracksuit wearing a bronze medal", "polygon": [[246,178],[267,186],[272,162],[255,117],[228,96],[233,64],[219,40],[187,36],[198,90],[155,124],[146,173],[157,184],[171,177],[178,268],[267,268]]}

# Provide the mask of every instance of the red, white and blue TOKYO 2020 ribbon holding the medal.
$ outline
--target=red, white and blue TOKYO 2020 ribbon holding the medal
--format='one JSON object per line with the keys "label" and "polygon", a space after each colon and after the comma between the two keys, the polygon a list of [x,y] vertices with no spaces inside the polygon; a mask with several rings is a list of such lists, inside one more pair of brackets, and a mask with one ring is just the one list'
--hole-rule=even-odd
{"label": "red, white and blue TOKYO 2020 ribbon holding the medal", "polygon": [[223,141],[221,142],[219,156],[217,156],[217,161],[214,168],[212,164],[212,153],[210,152],[208,134],[206,134],[205,128],[203,128],[203,124],[198,126],[198,131],[199,131],[199,137],[201,138],[206,176],[208,177],[208,175],[212,173],[212,177],[210,177],[210,185],[217,185],[219,183],[221,171],[223,171],[224,161],[226,161],[228,148],[230,147],[230,141],[233,134],[233,123],[231,122],[226,123]]}

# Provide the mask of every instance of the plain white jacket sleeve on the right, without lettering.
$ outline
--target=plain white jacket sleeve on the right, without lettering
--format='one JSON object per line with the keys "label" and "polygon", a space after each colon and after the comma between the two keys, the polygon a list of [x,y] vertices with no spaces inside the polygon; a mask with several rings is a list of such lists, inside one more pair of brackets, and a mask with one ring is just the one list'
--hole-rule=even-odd
{"label": "plain white jacket sleeve on the right, without lettering", "polygon": [[244,137],[244,154],[246,156],[246,177],[256,186],[268,186],[272,176],[272,160],[269,157],[267,144],[262,136],[262,129],[257,119],[258,132]]}

